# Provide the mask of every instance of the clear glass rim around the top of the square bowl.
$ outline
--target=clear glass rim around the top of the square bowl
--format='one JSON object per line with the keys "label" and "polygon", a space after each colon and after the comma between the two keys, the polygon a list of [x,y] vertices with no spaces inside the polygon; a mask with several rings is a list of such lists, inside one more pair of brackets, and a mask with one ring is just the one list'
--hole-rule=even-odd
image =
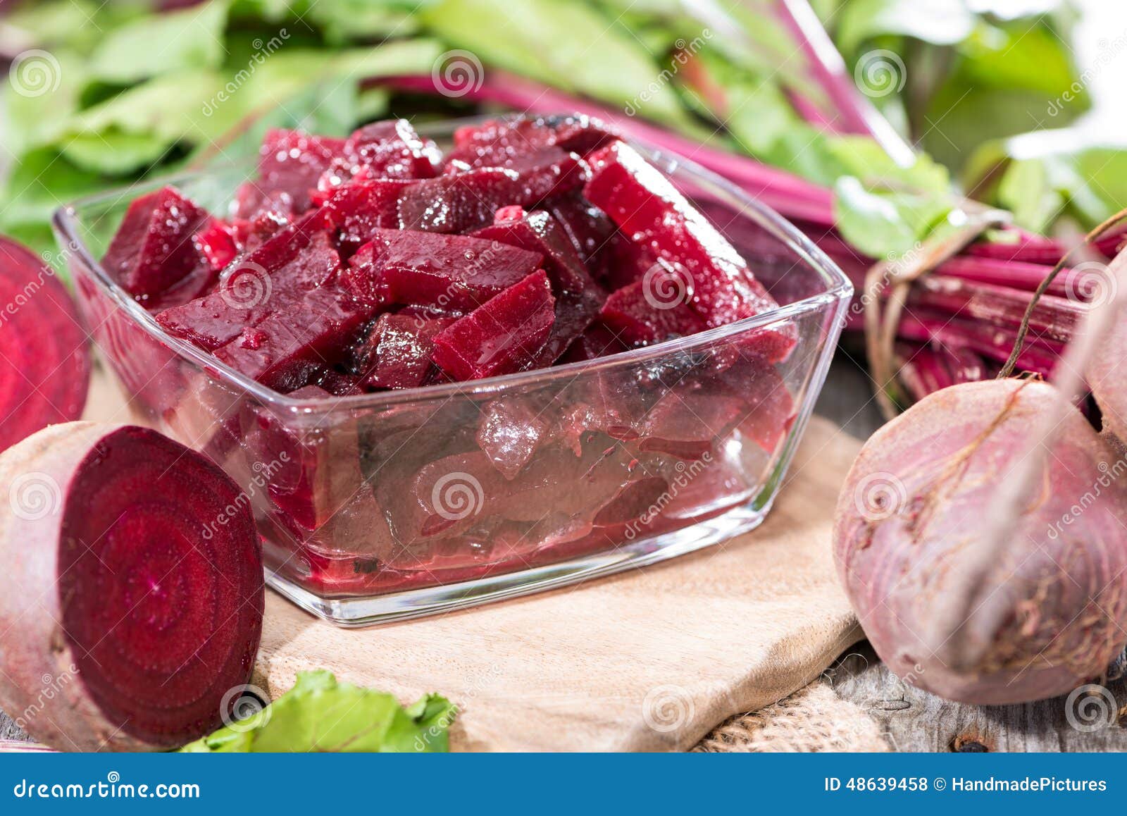
{"label": "clear glass rim around the top of the square bowl", "polygon": [[[506,116],[472,116],[455,119],[443,119],[440,122],[426,123],[418,127],[419,133],[435,135],[436,133],[452,133],[454,128],[464,125],[478,124],[489,119],[507,118]],[[52,227],[55,238],[64,254],[77,256],[87,269],[90,270],[92,280],[100,290],[109,296],[114,304],[122,309],[133,322],[137,323],[153,339],[175,352],[180,358],[187,360],[194,365],[208,373],[219,375],[223,384],[237,387],[246,393],[254,396],[263,403],[273,406],[281,410],[293,413],[320,413],[340,409],[383,408],[399,406],[405,402],[415,402],[429,399],[447,399],[454,396],[489,396],[499,391],[520,389],[524,385],[542,385],[554,379],[567,376],[578,376],[587,372],[602,371],[616,366],[629,366],[649,360],[664,357],[668,354],[691,352],[700,346],[707,346],[716,340],[740,335],[756,328],[765,327],[779,320],[798,317],[810,311],[817,311],[824,305],[831,305],[848,300],[853,294],[853,285],[841,268],[802,233],[790,221],[780,215],[774,209],[763,204],[749,194],[737,187],[735,184],[711,170],[701,167],[696,162],[684,158],[673,151],[656,148],[644,140],[624,139],[628,144],[642,153],[650,162],[657,165],[667,176],[683,176],[692,180],[702,180],[711,185],[730,201],[722,201],[725,205],[740,215],[751,218],[770,234],[779,239],[789,250],[798,256],[800,260],[813,267],[826,282],[826,289],[816,294],[797,300],[793,303],[781,305],[775,309],[760,312],[749,318],[743,318],[725,326],[676,337],[653,346],[632,348],[606,357],[595,360],[584,360],[561,365],[552,365],[547,369],[533,369],[500,376],[483,378],[468,382],[441,383],[434,385],[421,385],[418,388],[401,389],[394,391],[378,391],[374,393],[361,393],[353,396],[294,398],[274,389],[267,388],[257,380],[232,369],[202,348],[194,346],[187,340],[174,337],[165,331],[157,322],[154,316],[150,313],[141,303],[134,300],[124,289],[122,289],[113,277],[103,268],[101,263],[94,257],[87,247],[86,241],[79,237],[78,227],[81,221],[79,211],[96,206],[109,199],[119,202],[132,201],[141,190],[157,189],[165,185],[175,185],[186,180],[206,178],[208,176],[220,176],[224,172],[246,172],[250,162],[228,162],[208,167],[205,170],[190,170],[178,174],[169,174],[150,179],[143,179],[131,185],[117,187],[112,190],[98,193],[91,196],[83,196],[70,204],[64,204],[55,210],[52,215]]]}

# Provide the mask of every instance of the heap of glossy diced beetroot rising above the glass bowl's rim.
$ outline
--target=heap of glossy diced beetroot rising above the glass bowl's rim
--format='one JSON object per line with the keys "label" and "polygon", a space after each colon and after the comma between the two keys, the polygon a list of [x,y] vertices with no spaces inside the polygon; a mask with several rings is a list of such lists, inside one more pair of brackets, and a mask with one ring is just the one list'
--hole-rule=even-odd
{"label": "heap of glossy diced beetroot rising above the glass bowl's rim", "polygon": [[[660,343],[772,309],[656,168],[585,117],[270,132],[220,220],[133,202],[105,268],[171,335],[282,392],[476,380]],[[655,292],[677,298],[662,302]],[[763,331],[769,362],[793,346]]]}

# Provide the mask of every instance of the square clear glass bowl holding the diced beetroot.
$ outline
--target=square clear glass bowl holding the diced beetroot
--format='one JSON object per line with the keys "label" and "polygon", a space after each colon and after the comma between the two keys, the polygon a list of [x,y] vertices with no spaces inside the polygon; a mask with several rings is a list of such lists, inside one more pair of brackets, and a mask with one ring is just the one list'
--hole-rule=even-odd
{"label": "square clear glass bowl holding the diced beetroot", "polygon": [[[460,124],[428,135],[449,143]],[[635,147],[743,252],[778,309],[542,371],[292,399],[166,335],[98,260],[137,195],[175,184],[223,213],[250,168],[87,198],[54,225],[135,419],[239,482],[275,589],[362,626],[665,560],[748,531],[770,509],[851,286],[766,206],[680,157]],[[755,353],[765,330],[796,338],[784,361]],[[222,523],[199,520],[199,534]]]}

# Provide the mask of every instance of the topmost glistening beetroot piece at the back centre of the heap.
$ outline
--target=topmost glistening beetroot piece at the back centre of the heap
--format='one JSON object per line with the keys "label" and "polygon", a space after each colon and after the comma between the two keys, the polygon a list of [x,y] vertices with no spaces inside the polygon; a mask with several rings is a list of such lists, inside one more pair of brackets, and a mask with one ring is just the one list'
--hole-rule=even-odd
{"label": "topmost glistening beetroot piece at the back centre of the heap", "polygon": [[492,119],[459,127],[446,158],[470,167],[508,167],[515,158],[542,148],[583,154],[616,138],[606,125],[586,116]]}

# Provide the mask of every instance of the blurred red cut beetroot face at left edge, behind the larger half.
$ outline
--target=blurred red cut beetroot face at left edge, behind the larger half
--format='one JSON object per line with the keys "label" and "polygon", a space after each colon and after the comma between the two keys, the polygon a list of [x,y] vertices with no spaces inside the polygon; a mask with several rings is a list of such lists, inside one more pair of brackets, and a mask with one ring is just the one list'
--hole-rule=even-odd
{"label": "blurred red cut beetroot face at left edge, behind the larger half", "polygon": [[0,451],[78,419],[90,384],[86,331],[54,269],[0,237]]}

